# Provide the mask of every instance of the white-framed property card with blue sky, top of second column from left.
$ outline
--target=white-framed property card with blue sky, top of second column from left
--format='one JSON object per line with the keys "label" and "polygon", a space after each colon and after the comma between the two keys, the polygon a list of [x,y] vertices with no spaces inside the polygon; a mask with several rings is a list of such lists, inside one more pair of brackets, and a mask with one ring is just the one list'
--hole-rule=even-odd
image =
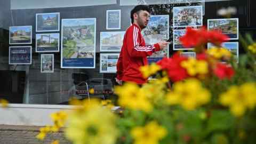
{"label": "white-framed property card with blue sky, top of second column from left", "polygon": [[36,14],[36,32],[59,31],[60,13],[37,13]]}

